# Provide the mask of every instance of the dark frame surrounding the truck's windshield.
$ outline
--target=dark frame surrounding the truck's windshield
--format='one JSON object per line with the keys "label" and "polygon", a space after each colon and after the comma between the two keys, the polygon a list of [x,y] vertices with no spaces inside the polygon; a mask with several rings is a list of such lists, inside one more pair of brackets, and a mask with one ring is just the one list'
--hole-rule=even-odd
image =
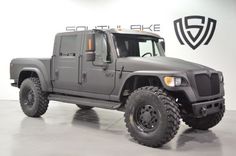
{"label": "dark frame surrounding the truck's windshield", "polygon": [[[144,38],[147,40],[152,41],[152,46],[153,46],[153,51],[152,51],[152,56],[150,57],[157,57],[157,56],[165,56],[165,51],[163,49],[163,47],[160,44],[160,41],[163,41],[163,38],[159,38],[159,37],[154,37],[154,36],[150,36],[150,35],[140,35],[140,34],[119,34],[119,33],[112,33],[112,39],[114,42],[114,46],[115,46],[115,51],[116,51],[116,55],[118,58],[122,58],[119,55],[119,46],[117,45],[117,36],[124,36],[127,38]],[[156,46],[156,48],[154,48],[154,44]],[[158,51],[156,51],[156,49]],[[155,55],[153,55],[155,54]],[[125,56],[125,57],[142,57],[142,56]],[[123,57],[124,58],[124,57]]]}

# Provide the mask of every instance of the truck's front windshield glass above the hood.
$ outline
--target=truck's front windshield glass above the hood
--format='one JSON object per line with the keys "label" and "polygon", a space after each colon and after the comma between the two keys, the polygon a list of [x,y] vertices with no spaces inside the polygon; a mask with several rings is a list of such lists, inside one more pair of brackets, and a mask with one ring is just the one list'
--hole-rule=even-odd
{"label": "truck's front windshield glass above the hood", "polygon": [[164,56],[161,38],[143,35],[114,34],[118,57]]}

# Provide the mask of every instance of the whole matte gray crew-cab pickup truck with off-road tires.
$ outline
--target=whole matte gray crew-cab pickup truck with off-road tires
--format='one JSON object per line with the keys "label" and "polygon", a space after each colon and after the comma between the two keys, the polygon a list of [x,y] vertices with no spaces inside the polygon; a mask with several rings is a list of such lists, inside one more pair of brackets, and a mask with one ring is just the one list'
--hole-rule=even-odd
{"label": "whole matte gray crew-cab pickup truck with off-road tires", "polygon": [[180,119],[207,130],[225,111],[222,73],[166,57],[164,39],[147,32],[58,33],[51,58],[13,59],[10,78],[27,116],[43,115],[50,100],[120,110],[131,136],[151,147],[170,141]]}

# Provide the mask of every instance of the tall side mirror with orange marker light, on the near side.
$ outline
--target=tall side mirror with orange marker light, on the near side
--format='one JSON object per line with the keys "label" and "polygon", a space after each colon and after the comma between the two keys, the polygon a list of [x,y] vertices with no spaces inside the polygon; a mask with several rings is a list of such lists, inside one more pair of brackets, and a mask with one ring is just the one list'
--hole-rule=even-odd
{"label": "tall side mirror with orange marker light, on the near side", "polygon": [[88,34],[86,42],[86,61],[95,61],[95,34]]}

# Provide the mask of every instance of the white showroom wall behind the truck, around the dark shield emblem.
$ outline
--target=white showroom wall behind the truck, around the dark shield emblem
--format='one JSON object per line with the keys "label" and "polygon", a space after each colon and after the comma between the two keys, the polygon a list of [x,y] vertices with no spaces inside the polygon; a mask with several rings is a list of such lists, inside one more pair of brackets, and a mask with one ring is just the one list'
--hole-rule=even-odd
{"label": "white showroom wall behind the truck, around the dark shield emblem", "polygon": [[[202,15],[217,20],[208,46],[195,51],[180,45],[173,20]],[[167,55],[198,62],[225,76],[227,109],[236,109],[235,0],[8,0],[0,2],[0,99],[18,99],[9,85],[9,63],[15,57],[50,57],[54,35],[74,25],[161,24]]]}

